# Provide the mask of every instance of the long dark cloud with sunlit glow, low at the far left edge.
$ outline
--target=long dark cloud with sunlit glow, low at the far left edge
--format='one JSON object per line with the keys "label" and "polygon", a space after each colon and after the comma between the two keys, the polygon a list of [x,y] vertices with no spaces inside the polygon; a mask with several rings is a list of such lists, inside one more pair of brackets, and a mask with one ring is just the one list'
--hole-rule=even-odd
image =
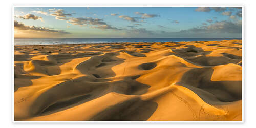
{"label": "long dark cloud with sunlit glow, low at the far left edge", "polygon": [[16,29],[16,30],[31,30],[31,31],[38,31],[38,32],[54,32],[54,33],[61,33],[61,34],[70,34],[69,32],[65,32],[63,30],[54,30],[52,28],[45,28],[45,27],[26,26],[21,22],[17,22],[16,20],[14,20],[14,29]]}

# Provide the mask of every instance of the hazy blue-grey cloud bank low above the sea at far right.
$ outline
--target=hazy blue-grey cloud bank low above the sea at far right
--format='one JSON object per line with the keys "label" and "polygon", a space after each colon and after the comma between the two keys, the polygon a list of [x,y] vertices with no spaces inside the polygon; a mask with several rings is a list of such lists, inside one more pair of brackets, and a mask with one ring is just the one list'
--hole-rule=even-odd
{"label": "hazy blue-grey cloud bank low above the sea at far right", "polygon": [[208,26],[194,27],[188,30],[181,30],[185,33],[242,33],[242,22],[230,22],[227,20],[221,22],[215,22],[214,24]]}

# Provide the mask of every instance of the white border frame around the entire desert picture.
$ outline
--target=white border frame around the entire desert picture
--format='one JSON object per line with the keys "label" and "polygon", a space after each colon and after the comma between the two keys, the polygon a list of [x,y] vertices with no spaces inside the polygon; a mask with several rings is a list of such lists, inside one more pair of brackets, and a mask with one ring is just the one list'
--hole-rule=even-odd
{"label": "white border frame around the entire desert picture", "polygon": [[[241,7],[242,8],[242,121],[15,121],[14,120],[14,8],[15,7]],[[243,5],[13,5],[12,6],[12,122],[13,123],[244,123],[244,6]]]}

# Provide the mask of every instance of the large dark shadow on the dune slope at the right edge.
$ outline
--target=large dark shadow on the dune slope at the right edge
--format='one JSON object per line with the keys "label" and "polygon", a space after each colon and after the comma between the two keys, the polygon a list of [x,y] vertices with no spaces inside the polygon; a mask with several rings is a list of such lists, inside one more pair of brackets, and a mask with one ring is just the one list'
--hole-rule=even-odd
{"label": "large dark shadow on the dune slope at the right edge", "polygon": [[211,68],[187,71],[177,83],[195,92],[207,103],[232,102],[242,99],[242,81],[211,81]]}

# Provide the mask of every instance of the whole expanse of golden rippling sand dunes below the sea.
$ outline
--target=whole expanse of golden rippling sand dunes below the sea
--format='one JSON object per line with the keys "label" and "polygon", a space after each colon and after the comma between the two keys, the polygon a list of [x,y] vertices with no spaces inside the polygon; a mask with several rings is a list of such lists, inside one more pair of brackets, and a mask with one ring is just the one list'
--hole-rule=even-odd
{"label": "whole expanse of golden rippling sand dunes below the sea", "polygon": [[242,41],[14,46],[15,121],[241,121]]}

